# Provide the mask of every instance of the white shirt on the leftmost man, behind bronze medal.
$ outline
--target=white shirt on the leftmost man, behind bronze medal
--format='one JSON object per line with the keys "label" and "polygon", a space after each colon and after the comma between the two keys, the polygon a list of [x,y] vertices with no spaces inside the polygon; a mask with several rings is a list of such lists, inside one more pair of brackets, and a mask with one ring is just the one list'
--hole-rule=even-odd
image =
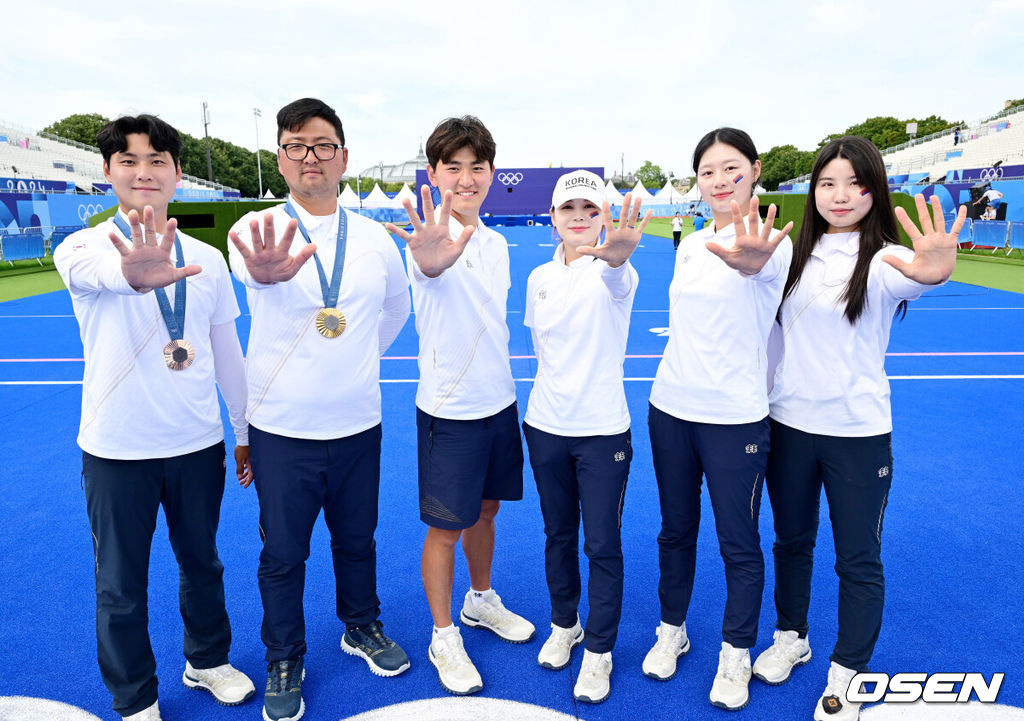
{"label": "white shirt on the leftmost man, behind bronze medal", "polygon": [[[70,236],[53,253],[85,352],[78,444],[93,456],[124,461],[209,448],[224,438],[210,329],[239,315],[224,258],[178,231],[185,265],[200,265],[203,271],[185,281],[184,339],[196,359],[183,371],[172,371],[164,362],[171,338],[157,296],[128,285],[111,232],[121,235],[113,219]],[[131,241],[125,244],[130,247]],[[175,249],[171,260],[176,258]],[[174,286],[164,290],[173,308]],[[241,412],[242,398],[237,407]]]}

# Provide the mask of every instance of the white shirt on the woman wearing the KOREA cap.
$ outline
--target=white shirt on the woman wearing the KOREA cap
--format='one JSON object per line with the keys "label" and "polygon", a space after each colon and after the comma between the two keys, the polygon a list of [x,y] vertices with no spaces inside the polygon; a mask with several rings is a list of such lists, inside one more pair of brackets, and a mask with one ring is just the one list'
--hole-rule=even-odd
{"label": "white shirt on the woman wearing the KOREA cap", "polygon": [[612,435],[630,427],[623,362],[637,271],[589,255],[565,264],[564,246],[526,282],[526,325],[537,380],[524,420],[548,433]]}

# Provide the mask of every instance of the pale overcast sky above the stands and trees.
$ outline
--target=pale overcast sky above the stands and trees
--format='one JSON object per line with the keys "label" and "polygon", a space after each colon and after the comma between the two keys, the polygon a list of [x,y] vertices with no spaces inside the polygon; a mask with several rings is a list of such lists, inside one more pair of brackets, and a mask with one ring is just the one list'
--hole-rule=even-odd
{"label": "pale overcast sky above the stands and trees", "polygon": [[[458,11],[455,8],[459,8]],[[497,166],[644,160],[689,175],[700,136],[813,150],[865,118],[971,122],[1024,97],[1024,2],[454,3],[20,0],[5,12],[0,120],[155,113],[272,150],[306,95],[341,115],[349,171],[397,163],[444,117],[490,128]]]}

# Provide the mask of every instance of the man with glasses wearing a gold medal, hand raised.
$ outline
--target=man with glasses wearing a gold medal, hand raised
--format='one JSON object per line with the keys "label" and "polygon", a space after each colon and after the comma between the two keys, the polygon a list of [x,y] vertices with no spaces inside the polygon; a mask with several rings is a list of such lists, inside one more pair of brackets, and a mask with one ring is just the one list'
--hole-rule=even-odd
{"label": "man with glasses wearing a gold medal, hand raised", "polygon": [[293,721],[305,710],[302,594],[321,509],[346,629],[342,649],[379,676],[409,668],[378,621],[374,532],[380,355],[404,325],[410,298],[384,228],[338,206],[348,150],[334,110],[313,98],[285,105],[278,143],[289,200],[241,218],[229,234],[229,259],[252,312],[247,418],[263,540],[263,717]]}

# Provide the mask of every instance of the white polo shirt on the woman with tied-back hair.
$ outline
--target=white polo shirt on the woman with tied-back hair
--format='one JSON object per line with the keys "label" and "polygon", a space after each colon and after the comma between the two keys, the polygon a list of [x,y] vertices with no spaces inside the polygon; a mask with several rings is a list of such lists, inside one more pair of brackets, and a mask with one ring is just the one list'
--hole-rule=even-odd
{"label": "white polo shirt on the woman with tied-back hair", "polygon": [[669,286],[669,342],[650,402],[696,423],[753,423],[768,415],[768,334],[785,286],[793,244],[784,238],[755,275],[705,247],[731,248],[736,231],[715,224],[684,238]]}

